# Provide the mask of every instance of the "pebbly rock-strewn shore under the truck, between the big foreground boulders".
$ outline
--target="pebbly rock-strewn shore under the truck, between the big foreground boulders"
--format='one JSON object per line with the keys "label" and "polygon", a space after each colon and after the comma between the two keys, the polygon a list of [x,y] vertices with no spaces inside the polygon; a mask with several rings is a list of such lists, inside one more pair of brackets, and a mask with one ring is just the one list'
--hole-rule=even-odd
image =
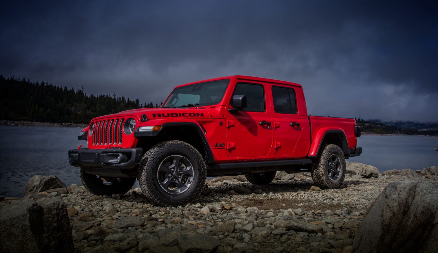
{"label": "pebbly rock-strewn shore under the truck, between the big foreground boulders", "polygon": [[[438,185],[434,166],[383,174],[365,164],[347,166],[339,189],[319,189],[310,173],[280,172],[265,186],[242,176],[213,178],[197,203],[184,207],[153,206],[139,188],[107,197],[71,185],[24,199],[66,203],[75,252],[347,253],[368,208],[389,183]],[[0,201],[2,209],[25,202]]]}

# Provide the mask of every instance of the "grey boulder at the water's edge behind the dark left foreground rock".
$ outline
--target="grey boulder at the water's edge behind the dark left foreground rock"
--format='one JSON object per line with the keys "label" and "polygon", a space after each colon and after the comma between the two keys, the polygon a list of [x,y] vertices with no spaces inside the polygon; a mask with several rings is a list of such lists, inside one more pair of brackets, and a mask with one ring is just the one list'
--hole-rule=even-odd
{"label": "grey boulder at the water's edge behind the dark left foreground rock", "polygon": [[51,175],[48,177],[35,175],[26,185],[23,197],[31,195],[33,193],[45,192],[51,189],[66,188],[65,185],[57,176]]}

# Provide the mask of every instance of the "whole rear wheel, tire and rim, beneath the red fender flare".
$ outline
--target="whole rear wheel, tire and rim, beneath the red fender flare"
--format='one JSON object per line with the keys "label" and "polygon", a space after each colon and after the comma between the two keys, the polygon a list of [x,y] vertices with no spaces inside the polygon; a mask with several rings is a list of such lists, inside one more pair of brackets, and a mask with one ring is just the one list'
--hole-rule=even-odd
{"label": "whole rear wheel, tire and rim, beneath the red fender flare", "polygon": [[322,188],[337,188],[344,182],[345,167],[341,148],[333,144],[324,145],[312,164],[313,182]]}

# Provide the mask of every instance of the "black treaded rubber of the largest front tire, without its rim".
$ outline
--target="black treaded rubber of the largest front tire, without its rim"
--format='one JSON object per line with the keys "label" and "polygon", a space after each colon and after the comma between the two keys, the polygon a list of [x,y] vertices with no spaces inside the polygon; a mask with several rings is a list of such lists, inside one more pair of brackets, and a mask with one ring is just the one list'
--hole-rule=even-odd
{"label": "black treaded rubber of the largest front tire, without its rim", "polygon": [[[191,163],[193,177],[184,192],[177,194],[166,191],[159,182],[159,167],[170,156],[181,156]],[[188,143],[166,141],[146,151],[138,167],[138,182],[141,191],[154,204],[181,206],[195,200],[202,192],[207,178],[207,169],[201,154]],[[187,183],[187,181],[186,181]]]}

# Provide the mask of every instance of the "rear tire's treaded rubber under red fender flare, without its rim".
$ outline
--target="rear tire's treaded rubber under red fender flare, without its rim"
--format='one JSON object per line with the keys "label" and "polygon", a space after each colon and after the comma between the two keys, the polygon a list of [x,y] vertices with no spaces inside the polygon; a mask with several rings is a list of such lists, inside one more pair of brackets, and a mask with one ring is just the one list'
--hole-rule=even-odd
{"label": "rear tire's treaded rubber under red fender flare, without its rim", "polygon": [[[329,158],[332,155],[339,158],[339,175],[335,180],[330,178],[328,171]],[[341,148],[334,144],[323,145],[317,159],[312,163],[311,174],[313,182],[321,188],[338,188],[344,182],[345,168],[345,157]]]}

